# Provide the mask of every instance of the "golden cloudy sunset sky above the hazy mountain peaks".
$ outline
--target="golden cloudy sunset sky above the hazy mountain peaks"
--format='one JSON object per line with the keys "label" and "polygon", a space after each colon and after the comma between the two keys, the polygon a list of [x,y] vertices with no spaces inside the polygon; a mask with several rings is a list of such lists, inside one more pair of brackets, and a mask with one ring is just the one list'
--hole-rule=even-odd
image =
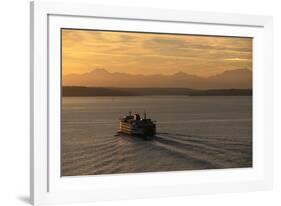
{"label": "golden cloudy sunset sky above the hazy mountain peaks", "polygon": [[62,30],[62,73],[212,76],[252,70],[252,38]]}

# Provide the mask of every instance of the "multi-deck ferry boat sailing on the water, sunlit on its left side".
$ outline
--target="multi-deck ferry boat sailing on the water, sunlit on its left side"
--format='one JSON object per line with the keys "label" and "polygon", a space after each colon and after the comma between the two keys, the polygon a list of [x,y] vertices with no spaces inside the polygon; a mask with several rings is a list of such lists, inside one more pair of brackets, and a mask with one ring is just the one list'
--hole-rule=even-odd
{"label": "multi-deck ferry boat sailing on the water, sunlit on its left side", "polygon": [[145,112],[143,118],[139,114],[132,115],[129,112],[129,115],[120,119],[119,132],[144,138],[153,137],[156,134],[156,122],[146,118]]}

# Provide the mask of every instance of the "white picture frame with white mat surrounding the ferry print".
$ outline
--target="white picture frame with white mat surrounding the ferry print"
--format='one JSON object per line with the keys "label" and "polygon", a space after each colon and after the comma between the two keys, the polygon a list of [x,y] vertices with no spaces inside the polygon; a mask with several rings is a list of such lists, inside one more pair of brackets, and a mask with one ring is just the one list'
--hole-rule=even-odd
{"label": "white picture frame with white mat surrounding the ferry print", "polygon": [[[253,168],[60,176],[61,28],[249,36],[253,46]],[[271,189],[272,17],[31,3],[31,201],[34,205]],[[57,66],[59,67],[59,66]],[[165,180],[165,181],[163,181]]]}

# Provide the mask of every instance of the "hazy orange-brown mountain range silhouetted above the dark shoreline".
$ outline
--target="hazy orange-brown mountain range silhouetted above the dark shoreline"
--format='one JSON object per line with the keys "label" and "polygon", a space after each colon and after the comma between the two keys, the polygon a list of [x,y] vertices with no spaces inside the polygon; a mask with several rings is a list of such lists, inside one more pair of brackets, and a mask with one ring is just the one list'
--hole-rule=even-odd
{"label": "hazy orange-brown mountain range silhouetted above the dark shoreline", "polygon": [[95,69],[84,74],[63,76],[63,86],[118,88],[190,88],[190,89],[251,89],[252,72],[248,69],[224,71],[210,77],[177,72],[172,75],[111,73]]}

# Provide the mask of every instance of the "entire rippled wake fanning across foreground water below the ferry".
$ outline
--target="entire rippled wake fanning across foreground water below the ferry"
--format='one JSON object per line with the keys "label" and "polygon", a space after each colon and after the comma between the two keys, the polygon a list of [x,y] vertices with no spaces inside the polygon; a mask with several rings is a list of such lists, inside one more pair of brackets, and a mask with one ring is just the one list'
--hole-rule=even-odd
{"label": "entire rippled wake fanning across foreground water below the ferry", "polygon": [[64,150],[63,155],[67,157],[63,159],[65,174],[112,174],[252,166],[252,144],[245,138],[238,137],[159,132],[151,141],[144,141],[140,137],[116,133],[88,144],[80,143],[76,142],[73,148]]}

